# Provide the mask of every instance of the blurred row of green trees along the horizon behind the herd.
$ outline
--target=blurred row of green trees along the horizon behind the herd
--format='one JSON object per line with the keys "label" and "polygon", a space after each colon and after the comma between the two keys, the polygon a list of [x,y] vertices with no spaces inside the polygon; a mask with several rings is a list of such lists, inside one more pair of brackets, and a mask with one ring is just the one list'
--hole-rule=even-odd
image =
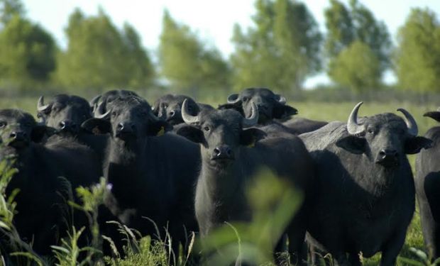
{"label": "blurred row of green trees along the horizon behind the herd", "polygon": [[20,0],[0,0],[0,91],[260,86],[295,92],[307,77],[324,71],[335,87],[370,92],[383,88],[384,72],[393,70],[399,89],[440,92],[440,23],[434,11],[412,9],[395,46],[385,23],[358,0],[330,0],[324,17],[325,34],[301,1],[256,0],[253,25],[234,26],[234,51],[224,58],[166,10],[154,53],[133,26],[117,28],[103,9],[95,16],[75,9],[65,28],[67,48],[61,49],[26,17]]}

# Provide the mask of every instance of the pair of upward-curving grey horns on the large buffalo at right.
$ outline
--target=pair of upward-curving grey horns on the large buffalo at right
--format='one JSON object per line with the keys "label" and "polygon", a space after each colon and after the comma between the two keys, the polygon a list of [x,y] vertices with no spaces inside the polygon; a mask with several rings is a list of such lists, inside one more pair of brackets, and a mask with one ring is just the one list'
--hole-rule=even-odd
{"label": "pair of upward-curving grey horns on the large buffalo at right", "polygon": [[[362,101],[356,104],[356,106],[353,108],[353,111],[351,111],[350,116],[348,116],[347,131],[351,135],[361,134],[365,131],[365,126],[358,124],[358,111],[362,104]],[[397,111],[402,112],[405,116],[404,120],[407,124],[409,135],[417,135],[419,133],[419,129],[417,128],[417,123],[414,117],[412,117],[411,113],[402,108],[397,109]]]}

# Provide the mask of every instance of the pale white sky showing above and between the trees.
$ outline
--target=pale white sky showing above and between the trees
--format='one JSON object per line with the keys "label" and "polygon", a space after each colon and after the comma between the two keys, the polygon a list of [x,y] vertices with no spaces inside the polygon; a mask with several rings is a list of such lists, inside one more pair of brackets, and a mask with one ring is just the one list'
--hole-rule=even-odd
{"label": "pale white sky showing above and between the trees", "polygon": [[[341,1],[348,3],[348,0]],[[393,40],[412,8],[429,7],[440,15],[440,0],[360,1],[373,12],[376,19],[385,22]],[[317,20],[321,31],[325,31],[324,9],[329,6],[329,0],[303,2]],[[154,52],[162,31],[163,11],[167,9],[175,21],[192,28],[201,40],[214,45],[225,58],[233,52],[231,35],[234,24],[238,23],[242,28],[252,26],[254,3],[255,0],[23,0],[28,18],[52,33],[62,48],[67,45],[64,29],[72,11],[78,7],[87,15],[96,15],[100,6],[119,28],[125,22],[136,28],[145,48]],[[391,72],[385,74],[386,82],[392,83],[394,80]],[[313,87],[328,82],[326,74],[321,73],[307,79],[304,86]]]}

